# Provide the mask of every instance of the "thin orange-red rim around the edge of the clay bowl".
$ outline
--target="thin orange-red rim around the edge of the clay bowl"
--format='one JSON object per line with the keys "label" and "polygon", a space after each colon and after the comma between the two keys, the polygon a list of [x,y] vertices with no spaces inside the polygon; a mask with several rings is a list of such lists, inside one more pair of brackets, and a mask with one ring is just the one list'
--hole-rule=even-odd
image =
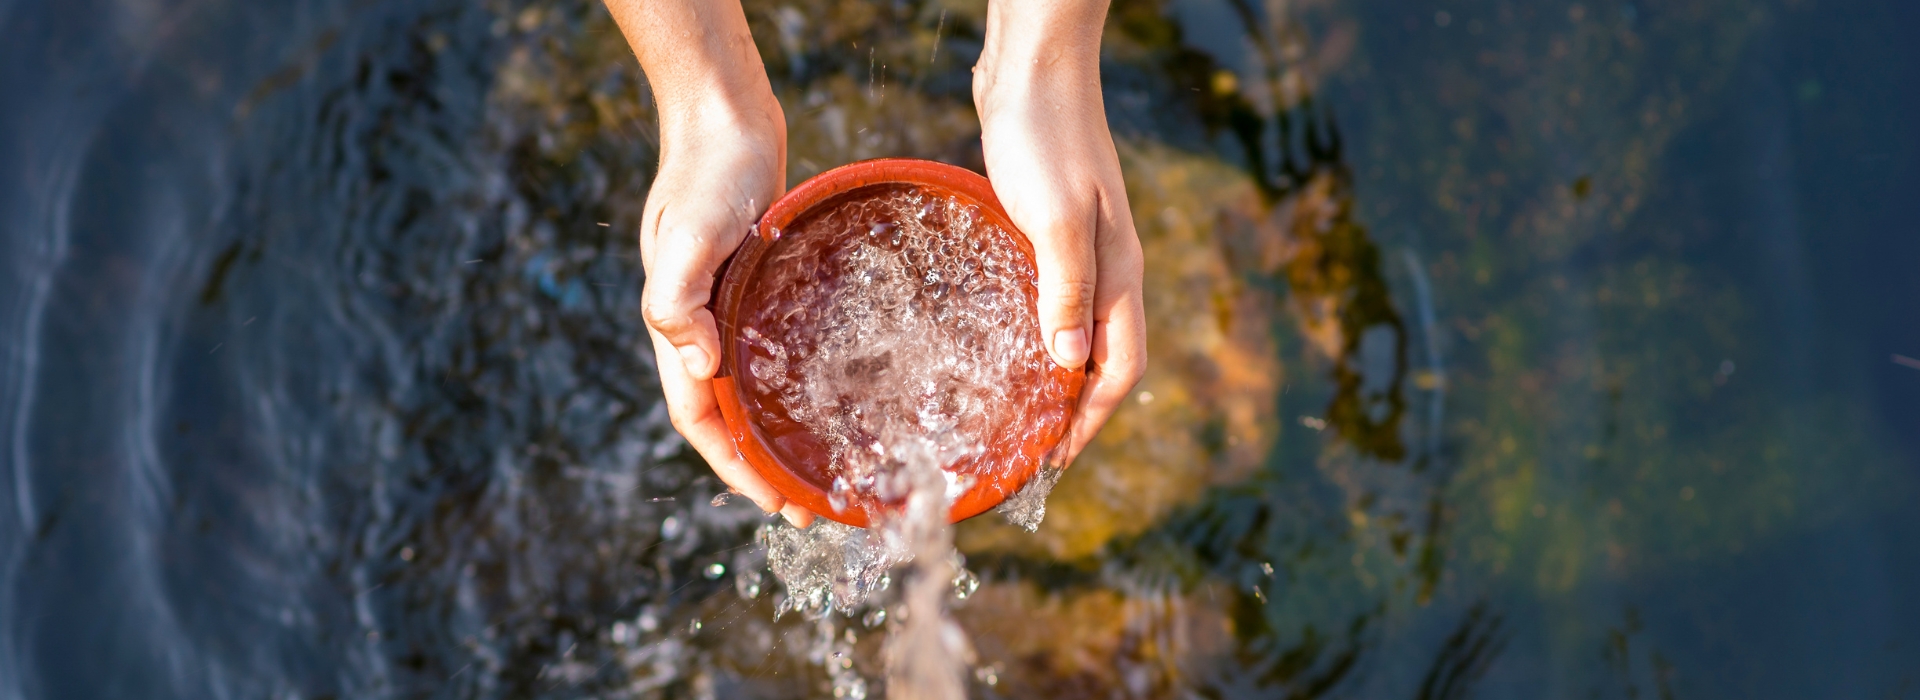
{"label": "thin orange-red rim around the edge of the clay bowl", "polygon": [[[849,506],[847,510],[833,510],[828,491],[803,479],[787,468],[780,456],[774,455],[755,426],[747,407],[745,387],[739,385],[733,372],[733,362],[739,355],[735,349],[739,341],[735,318],[739,315],[745,290],[749,288],[749,280],[755,278],[760,259],[772,249],[772,244],[780,240],[783,226],[793,224],[793,221],[810,209],[835,198],[885,184],[912,184],[947,190],[950,196],[979,205],[981,213],[993,224],[1018,234],[1012,238],[1021,255],[1029,261],[1035,257],[1033,244],[1027,240],[1025,232],[1014,226],[1006,209],[1000,207],[1000,199],[993,194],[993,184],[979,173],[937,161],[881,157],[820,173],[776,199],[755,224],[753,232],[745,236],[739,249],[735,249],[733,255],[722,263],[716,292],[712,295],[712,303],[708,305],[720,330],[720,370],[714,374],[714,397],[718,399],[720,416],[726,420],[728,433],[733,437],[733,447],[739,451],[739,456],[745,458],[762,479],[780,491],[780,495],[787,497],[787,501],[812,510],[816,516],[854,527],[866,527],[870,524],[868,508]],[[1085,370],[1069,372],[1066,378],[1068,403],[1071,410],[1079,410],[1079,395],[1085,387]],[[1029,464],[1018,468],[1016,474],[1008,474],[1006,478],[991,483],[975,483],[968,487],[966,493],[954,499],[954,504],[948,510],[948,522],[960,522],[983,514],[1020,491],[1020,487],[1023,487],[1033,474],[1039,472],[1039,466],[1048,458],[1054,447],[1064,441],[1069,424],[1071,418],[1064,420],[1058,430],[1021,445],[1023,455],[1029,456]]]}

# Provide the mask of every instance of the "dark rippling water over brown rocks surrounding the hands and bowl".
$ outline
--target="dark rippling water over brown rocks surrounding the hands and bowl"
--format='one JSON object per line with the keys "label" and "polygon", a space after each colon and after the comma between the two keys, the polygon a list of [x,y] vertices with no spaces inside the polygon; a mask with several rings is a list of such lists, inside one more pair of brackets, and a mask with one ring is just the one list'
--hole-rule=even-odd
{"label": "dark rippling water over brown rocks surrounding the hands and bowl", "polygon": [[[749,2],[791,180],[979,167],[979,6]],[[1916,21],[1116,2],[1154,368],[1039,535],[962,527],[975,692],[1920,694]],[[666,424],[599,6],[0,36],[0,698],[877,679]]]}

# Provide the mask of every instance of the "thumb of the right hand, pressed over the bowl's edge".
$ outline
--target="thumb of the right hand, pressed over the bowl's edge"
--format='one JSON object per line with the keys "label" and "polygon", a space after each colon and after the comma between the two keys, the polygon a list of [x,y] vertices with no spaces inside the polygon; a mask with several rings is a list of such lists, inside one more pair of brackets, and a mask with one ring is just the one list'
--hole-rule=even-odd
{"label": "thumb of the right hand, pressed over the bowl's edge", "polygon": [[1073,205],[1071,194],[1039,199],[1016,194],[1002,198],[1006,199],[1016,201],[1008,207],[1008,219],[1033,242],[1041,339],[1056,364],[1077,370],[1092,353],[1092,295],[1098,280],[1092,234],[1098,201]]}

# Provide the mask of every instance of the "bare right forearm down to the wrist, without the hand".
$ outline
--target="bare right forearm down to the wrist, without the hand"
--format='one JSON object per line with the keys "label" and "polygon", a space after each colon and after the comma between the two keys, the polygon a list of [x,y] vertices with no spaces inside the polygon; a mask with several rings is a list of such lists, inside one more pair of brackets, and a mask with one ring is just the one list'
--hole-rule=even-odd
{"label": "bare right forearm down to the wrist, without the hand", "polygon": [[973,67],[981,119],[1002,104],[1098,105],[1106,8],[1106,0],[993,0],[987,42]]}

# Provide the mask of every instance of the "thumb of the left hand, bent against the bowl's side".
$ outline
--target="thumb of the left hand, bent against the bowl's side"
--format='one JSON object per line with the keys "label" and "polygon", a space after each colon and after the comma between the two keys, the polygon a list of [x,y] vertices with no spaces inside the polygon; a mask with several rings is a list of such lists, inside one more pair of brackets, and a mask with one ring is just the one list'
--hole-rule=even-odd
{"label": "thumb of the left hand, bent against the bowl's side", "polygon": [[662,221],[655,230],[647,286],[639,295],[647,326],[672,349],[660,357],[678,357],[693,380],[710,380],[720,370],[720,330],[707,301],[712,297],[714,270],[739,238],[716,230],[724,226],[726,221],[682,226]]}

